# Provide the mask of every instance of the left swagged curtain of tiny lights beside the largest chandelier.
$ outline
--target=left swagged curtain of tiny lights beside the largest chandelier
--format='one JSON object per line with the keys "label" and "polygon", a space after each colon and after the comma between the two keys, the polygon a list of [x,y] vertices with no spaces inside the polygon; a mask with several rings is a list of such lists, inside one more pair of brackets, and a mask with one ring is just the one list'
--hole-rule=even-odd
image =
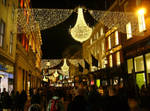
{"label": "left swagged curtain of tiny lights beside the largest chandelier", "polygon": [[[29,13],[28,18],[24,15],[25,11]],[[71,9],[17,9],[18,33],[36,31],[34,27],[36,22],[40,30],[54,27],[64,22],[72,12]]]}

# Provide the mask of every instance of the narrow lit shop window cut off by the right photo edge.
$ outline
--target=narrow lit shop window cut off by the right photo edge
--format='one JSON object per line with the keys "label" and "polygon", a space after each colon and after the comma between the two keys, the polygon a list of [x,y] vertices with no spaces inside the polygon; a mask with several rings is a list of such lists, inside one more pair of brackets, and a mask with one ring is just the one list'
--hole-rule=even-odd
{"label": "narrow lit shop window cut off by the right photo edge", "polygon": [[150,53],[146,54],[145,58],[146,58],[147,82],[150,83]]}

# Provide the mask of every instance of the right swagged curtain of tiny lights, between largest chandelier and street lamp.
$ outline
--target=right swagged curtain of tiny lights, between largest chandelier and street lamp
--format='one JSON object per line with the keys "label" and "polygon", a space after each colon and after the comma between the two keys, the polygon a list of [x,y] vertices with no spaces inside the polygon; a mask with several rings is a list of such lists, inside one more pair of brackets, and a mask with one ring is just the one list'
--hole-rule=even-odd
{"label": "right swagged curtain of tiny lights, between largest chandelier and street lamp", "polygon": [[139,35],[138,16],[132,12],[111,12],[100,10],[89,10],[92,17],[101,22],[109,29],[117,27],[119,32],[126,32],[126,25],[130,22],[132,26],[132,34]]}

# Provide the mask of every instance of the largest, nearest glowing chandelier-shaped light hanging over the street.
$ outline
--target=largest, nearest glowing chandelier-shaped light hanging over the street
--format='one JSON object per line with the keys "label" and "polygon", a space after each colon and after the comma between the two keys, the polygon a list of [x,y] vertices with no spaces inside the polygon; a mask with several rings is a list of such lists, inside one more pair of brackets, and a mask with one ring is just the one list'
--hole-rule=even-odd
{"label": "largest, nearest glowing chandelier-shaped light hanging over the street", "polygon": [[92,34],[92,28],[87,26],[84,15],[83,15],[83,9],[78,8],[78,17],[76,24],[73,28],[70,29],[70,33],[72,37],[79,42],[84,42],[87,39],[90,38],[90,35]]}

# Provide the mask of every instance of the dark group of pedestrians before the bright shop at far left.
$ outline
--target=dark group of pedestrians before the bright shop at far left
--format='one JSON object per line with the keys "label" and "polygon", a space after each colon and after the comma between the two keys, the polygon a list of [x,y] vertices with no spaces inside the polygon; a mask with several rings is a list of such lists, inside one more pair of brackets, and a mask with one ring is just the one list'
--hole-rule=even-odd
{"label": "dark group of pedestrians before the bright shop at far left", "polygon": [[27,101],[27,94],[25,90],[22,90],[21,93],[14,90],[9,94],[6,91],[6,88],[3,89],[3,92],[0,93],[0,111],[24,111],[24,106]]}

